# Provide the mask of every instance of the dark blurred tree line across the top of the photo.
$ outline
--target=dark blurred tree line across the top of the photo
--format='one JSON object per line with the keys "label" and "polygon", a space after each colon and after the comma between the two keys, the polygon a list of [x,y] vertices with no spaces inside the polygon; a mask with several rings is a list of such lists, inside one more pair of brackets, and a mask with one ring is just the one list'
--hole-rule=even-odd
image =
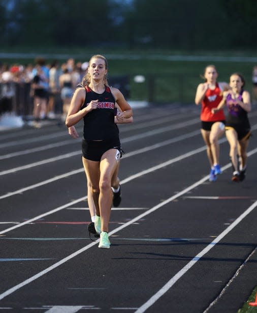
{"label": "dark blurred tree line across the top of the photo", "polygon": [[256,0],[1,0],[8,47],[219,50],[257,46]]}

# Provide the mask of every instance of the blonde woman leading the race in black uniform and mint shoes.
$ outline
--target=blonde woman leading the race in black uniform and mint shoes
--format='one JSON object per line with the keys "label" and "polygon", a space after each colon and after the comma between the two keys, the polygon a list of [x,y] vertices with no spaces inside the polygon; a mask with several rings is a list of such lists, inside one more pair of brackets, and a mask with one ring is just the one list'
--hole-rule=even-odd
{"label": "blonde woman leading the race in black uniform and mint shoes", "polygon": [[82,161],[96,209],[94,226],[100,233],[100,248],[110,247],[111,181],[121,156],[119,131],[114,123],[115,102],[122,110],[117,115],[119,122],[133,114],[122,93],[108,86],[107,72],[104,56],[93,55],[82,80],[83,87],[76,89],[66,119],[67,127],[84,120]]}

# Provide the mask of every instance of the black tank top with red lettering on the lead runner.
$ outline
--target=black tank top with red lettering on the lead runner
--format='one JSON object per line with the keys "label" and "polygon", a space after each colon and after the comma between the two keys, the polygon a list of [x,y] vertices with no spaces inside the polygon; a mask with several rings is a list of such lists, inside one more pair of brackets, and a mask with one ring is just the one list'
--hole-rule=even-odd
{"label": "black tank top with red lettering on the lead runner", "polygon": [[97,94],[88,86],[85,87],[86,97],[81,109],[91,100],[98,100],[98,108],[84,116],[83,137],[86,140],[108,140],[119,137],[119,129],[114,123],[115,99],[108,86],[103,94]]}

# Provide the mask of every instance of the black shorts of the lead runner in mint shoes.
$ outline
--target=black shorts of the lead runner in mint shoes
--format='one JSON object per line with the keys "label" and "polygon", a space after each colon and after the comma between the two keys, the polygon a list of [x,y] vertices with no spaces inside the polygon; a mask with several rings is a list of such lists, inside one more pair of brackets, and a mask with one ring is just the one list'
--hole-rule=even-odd
{"label": "black shorts of the lead runner in mint shoes", "polygon": [[100,162],[103,154],[110,149],[117,150],[115,158],[118,161],[122,156],[122,150],[118,138],[108,140],[82,139],[82,154],[85,159]]}

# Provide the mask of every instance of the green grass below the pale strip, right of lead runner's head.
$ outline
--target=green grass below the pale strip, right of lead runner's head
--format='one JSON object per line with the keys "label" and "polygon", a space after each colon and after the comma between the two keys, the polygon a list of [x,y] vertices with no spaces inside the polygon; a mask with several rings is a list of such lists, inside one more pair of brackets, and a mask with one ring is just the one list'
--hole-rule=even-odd
{"label": "green grass below the pale strip, right of lead runner's head", "polygon": [[[132,99],[149,99],[149,79],[153,77],[154,87],[152,88],[154,88],[155,95],[153,102],[192,103],[198,84],[203,82],[200,75],[210,63],[215,64],[219,81],[229,81],[230,74],[234,72],[242,73],[246,80],[246,89],[251,92],[251,74],[255,65],[251,62],[154,61],[149,64],[147,60],[139,62],[112,60],[109,75],[112,73],[130,75]],[[133,78],[136,74],[145,75],[145,83],[134,83]]]}

